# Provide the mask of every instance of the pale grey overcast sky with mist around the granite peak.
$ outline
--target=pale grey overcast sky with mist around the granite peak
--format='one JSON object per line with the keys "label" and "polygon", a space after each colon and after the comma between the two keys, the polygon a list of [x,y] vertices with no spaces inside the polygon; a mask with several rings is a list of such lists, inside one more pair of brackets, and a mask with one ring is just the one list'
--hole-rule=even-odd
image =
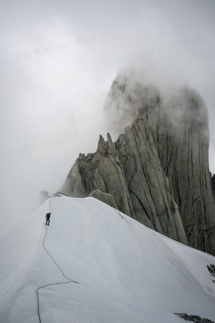
{"label": "pale grey overcast sky with mist around the granite peak", "polygon": [[163,82],[198,89],[215,173],[214,0],[8,0],[0,12],[1,232],[39,206],[40,190],[59,189],[100,133],[106,139],[102,110],[120,68],[162,66]]}

